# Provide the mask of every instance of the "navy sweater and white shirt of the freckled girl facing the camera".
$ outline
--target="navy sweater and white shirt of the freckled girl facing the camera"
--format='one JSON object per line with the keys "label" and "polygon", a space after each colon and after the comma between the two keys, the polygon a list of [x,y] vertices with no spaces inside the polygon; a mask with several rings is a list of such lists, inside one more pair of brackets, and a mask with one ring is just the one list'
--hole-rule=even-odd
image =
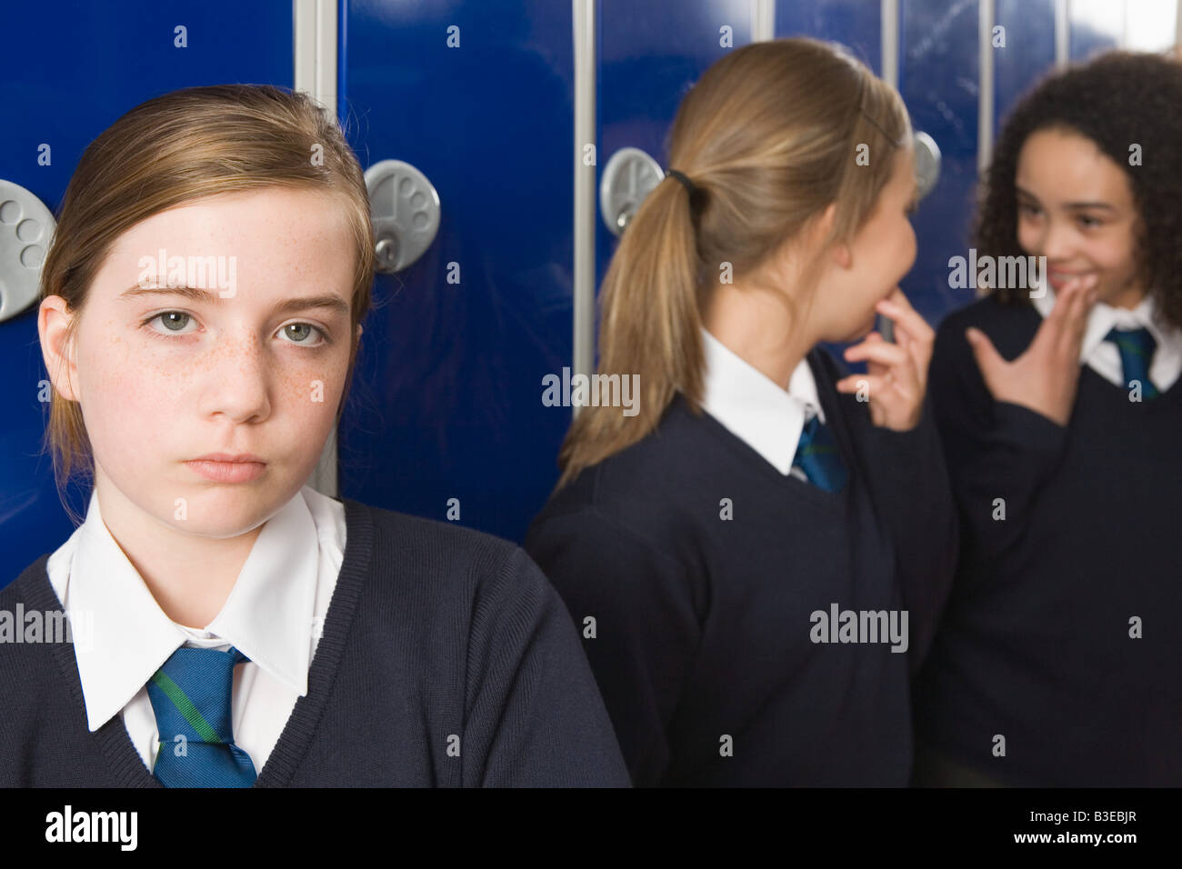
{"label": "navy sweater and white shirt of the freckled girl facing the camera", "polygon": [[178,649],[245,656],[228,720],[256,786],[628,784],[560,599],[475,531],[305,486],[195,629],[160,609],[92,494],[0,590],[18,608],[64,610],[73,642],[0,643],[0,786],[160,786],[148,686]]}

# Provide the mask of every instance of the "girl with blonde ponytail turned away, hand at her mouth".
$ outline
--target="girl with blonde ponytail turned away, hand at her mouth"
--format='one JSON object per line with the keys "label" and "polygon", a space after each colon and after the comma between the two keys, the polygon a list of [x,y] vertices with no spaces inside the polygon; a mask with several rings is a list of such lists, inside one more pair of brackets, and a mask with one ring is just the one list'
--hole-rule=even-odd
{"label": "girl with blonde ponytail turned away, hand at her mouth", "polygon": [[[905,785],[908,682],[956,528],[900,96],[839,47],[745,46],[689,91],[602,287],[599,372],[526,547],[636,785]],[[894,322],[895,342],[872,331]],[[849,375],[821,343],[859,343]]]}

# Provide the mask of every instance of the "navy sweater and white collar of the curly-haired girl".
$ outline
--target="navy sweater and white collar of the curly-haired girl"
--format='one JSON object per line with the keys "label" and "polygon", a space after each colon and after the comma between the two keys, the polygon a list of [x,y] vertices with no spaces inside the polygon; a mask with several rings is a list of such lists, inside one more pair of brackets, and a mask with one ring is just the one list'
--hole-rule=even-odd
{"label": "navy sweater and white collar of the curly-haired girl", "polygon": [[[1148,299],[1097,303],[1059,426],[994,401],[965,338],[976,326],[1013,359],[1053,304],[1050,288],[1032,305],[988,297],[937,331],[931,397],[963,545],[916,685],[917,739],[1000,784],[1178,785],[1182,336]],[[1156,343],[1142,387],[1160,391],[1139,402],[1105,339],[1135,328]]]}

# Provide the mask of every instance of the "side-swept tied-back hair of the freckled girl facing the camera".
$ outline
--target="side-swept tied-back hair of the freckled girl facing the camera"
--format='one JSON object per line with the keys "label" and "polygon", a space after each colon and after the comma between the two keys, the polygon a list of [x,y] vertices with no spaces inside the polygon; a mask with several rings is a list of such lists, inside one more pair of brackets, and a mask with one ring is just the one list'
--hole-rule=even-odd
{"label": "side-swept tied-back hair of the freckled girl facing the camera", "polygon": [[[340,197],[348,212],[356,265],[339,421],[359,346],[357,324],[370,306],[374,228],[357,157],[336,118],[305,93],[272,85],[187,87],[137,105],[91,142],[70,180],[41,268],[41,299],[60,296],[74,314],[66,346],[121,234],[186,202],[268,187],[325,192]],[[59,494],[74,472],[92,479],[82,408],[57,389],[43,448],[53,455]]]}

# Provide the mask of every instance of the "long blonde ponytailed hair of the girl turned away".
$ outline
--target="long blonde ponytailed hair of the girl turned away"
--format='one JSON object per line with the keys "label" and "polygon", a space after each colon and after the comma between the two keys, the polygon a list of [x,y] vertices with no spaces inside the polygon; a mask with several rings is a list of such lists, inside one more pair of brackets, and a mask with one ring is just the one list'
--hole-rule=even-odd
{"label": "long blonde ponytailed hair of the girl turned away", "polygon": [[[657,184],[599,294],[598,370],[639,375],[638,413],[583,408],[559,453],[558,488],[648,435],[675,393],[700,413],[702,311],[722,264],[734,278],[756,273],[833,202],[824,245],[852,239],[909,134],[898,93],[836,44],[753,43],[706,71],[668,144],[669,166],[695,190],[671,177]],[[859,145],[868,164],[856,162]]]}

